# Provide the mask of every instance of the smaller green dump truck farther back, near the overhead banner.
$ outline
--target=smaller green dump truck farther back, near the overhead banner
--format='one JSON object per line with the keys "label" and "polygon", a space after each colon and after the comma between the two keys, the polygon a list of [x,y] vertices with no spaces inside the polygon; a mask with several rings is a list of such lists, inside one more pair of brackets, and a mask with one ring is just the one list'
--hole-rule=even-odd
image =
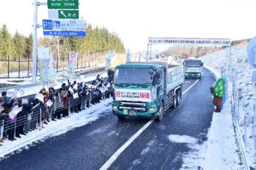
{"label": "smaller green dump truck farther back, near the overhead banner", "polygon": [[184,67],[185,67],[185,78],[199,78],[202,77],[202,66],[204,64],[201,62],[201,60],[187,60],[184,61]]}

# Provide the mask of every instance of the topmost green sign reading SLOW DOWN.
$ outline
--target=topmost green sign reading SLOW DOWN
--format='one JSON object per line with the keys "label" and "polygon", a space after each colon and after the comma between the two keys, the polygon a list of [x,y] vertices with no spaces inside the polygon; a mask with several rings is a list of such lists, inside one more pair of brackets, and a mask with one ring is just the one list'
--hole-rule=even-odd
{"label": "topmost green sign reading SLOW DOWN", "polygon": [[48,9],[78,9],[78,0],[47,0]]}

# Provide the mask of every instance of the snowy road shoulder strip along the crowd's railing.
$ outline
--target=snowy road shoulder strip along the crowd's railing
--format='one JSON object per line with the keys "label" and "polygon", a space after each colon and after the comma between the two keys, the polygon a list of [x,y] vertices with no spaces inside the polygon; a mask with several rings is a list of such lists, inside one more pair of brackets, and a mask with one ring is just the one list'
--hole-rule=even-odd
{"label": "snowy road shoulder strip along the crowd's railing", "polygon": [[45,129],[29,132],[27,136],[21,135],[22,137],[17,138],[15,141],[5,140],[2,143],[3,146],[1,146],[0,158],[3,158],[6,154],[14,153],[16,150],[16,152],[21,152],[23,149],[28,149],[33,145],[33,142],[43,142],[46,138],[64,134],[68,130],[84,126],[104,116],[104,114],[109,114],[111,102],[112,99],[110,98],[82,112],[71,114],[70,118],[62,118],[62,120],[57,120],[57,122],[51,121],[48,125],[44,124]]}

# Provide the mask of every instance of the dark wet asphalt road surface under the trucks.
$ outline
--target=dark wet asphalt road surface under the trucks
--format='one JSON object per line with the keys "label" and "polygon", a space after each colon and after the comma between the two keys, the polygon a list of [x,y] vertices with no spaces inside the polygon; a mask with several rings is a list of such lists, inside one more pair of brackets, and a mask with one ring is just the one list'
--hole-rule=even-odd
{"label": "dark wet asphalt road surface under the trucks", "polygon": [[[204,69],[204,76],[182,97],[176,110],[166,111],[162,122],[154,121],[110,166],[110,170],[178,170],[182,155],[190,148],[170,142],[170,134],[188,135],[205,141],[212,121],[210,86],[214,75]],[[196,80],[186,80],[184,90]],[[107,112],[107,113],[106,113]],[[106,111],[98,120],[49,138],[0,162],[8,170],[98,170],[149,120],[118,120]],[[2,149],[2,148],[1,148]]]}

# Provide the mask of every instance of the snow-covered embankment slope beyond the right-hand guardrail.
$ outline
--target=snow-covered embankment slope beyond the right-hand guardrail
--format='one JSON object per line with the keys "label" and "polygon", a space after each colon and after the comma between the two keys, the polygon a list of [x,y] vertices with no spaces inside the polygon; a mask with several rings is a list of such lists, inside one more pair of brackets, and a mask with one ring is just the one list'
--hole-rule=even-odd
{"label": "snow-covered embankment slope beyond the right-hand guardrail", "polygon": [[[244,116],[248,116],[247,126],[247,142],[246,142],[246,154],[248,157],[249,165],[255,167],[254,161],[254,141],[252,140],[252,124],[254,107],[256,106],[256,83],[252,81],[252,72],[254,68],[248,61],[246,53],[246,46],[232,47],[232,65],[234,68],[234,76],[236,77],[236,93],[240,100],[239,108],[239,124],[241,133],[244,134]],[[213,54],[203,56],[202,62],[204,65],[210,66],[217,72],[221,72],[222,63],[225,60],[226,50],[222,50]],[[236,102],[238,104],[238,101]]]}

